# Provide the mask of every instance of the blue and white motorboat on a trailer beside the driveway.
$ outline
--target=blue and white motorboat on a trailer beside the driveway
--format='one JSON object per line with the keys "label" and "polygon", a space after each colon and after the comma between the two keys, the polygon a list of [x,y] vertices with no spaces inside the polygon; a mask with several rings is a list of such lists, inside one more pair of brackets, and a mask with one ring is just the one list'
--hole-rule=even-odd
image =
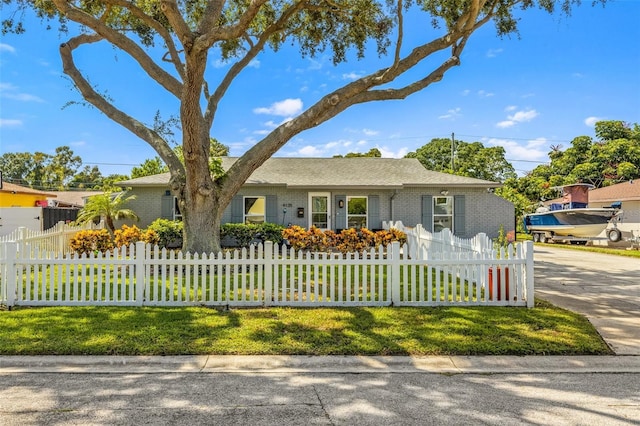
{"label": "blue and white motorboat on a trailer beside the driveway", "polygon": [[539,207],[535,213],[525,215],[525,230],[535,242],[567,240],[586,243],[613,225],[606,235],[610,241],[620,241],[621,233],[616,224],[622,215],[622,203],[608,207],[589,207],[589,191],[593,185],[578,183],[557,187],[562,191],[560,202]]}

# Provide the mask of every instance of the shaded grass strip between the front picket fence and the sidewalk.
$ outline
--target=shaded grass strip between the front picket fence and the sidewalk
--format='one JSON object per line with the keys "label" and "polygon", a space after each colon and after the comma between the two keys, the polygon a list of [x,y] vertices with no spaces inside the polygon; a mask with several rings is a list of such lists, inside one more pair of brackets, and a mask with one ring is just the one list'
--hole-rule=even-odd
{"label": "shaded grass strip between the front picket fence and the sidewalk", "polygon": [[0,355],[604,355],[581,315],[535,308],[46,307],[0,311]]}

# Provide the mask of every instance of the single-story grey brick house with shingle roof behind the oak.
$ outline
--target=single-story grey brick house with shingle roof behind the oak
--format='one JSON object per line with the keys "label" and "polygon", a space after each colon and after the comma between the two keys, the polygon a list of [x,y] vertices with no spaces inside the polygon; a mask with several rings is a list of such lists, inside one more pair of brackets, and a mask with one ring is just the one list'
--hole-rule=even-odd
{"label": "single-story grey brick house with shingle roof behind the oak", "polygon": [[[236,161],[224,157],[223,168]],[[146,227],[180,219],[169,173],[119,182],[136,199],[127,204]],[[499,183],[426,170],[417,159],[271,158],[259,167],[224,212],[223,223],[270,222],[339,231],[382,228],[383,221],[449,228],[471,237],[515,229],[511,202],[493,194]]]}

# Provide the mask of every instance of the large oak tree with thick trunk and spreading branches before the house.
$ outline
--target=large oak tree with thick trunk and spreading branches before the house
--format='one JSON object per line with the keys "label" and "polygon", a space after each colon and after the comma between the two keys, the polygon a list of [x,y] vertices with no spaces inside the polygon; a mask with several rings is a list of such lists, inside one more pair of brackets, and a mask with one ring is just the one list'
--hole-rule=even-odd
{"label": "large oak tree with thick trunk and spreading branches before the house", "polygon": [[[569,13],[580,0],[3,0],[35,7],[44,17],[80,24],[82,31],[60,45],[64,73],[82,97],[151,145],[171,172],[171,191],[184,219],[184,249],[218,250],[222,213],[251,173],[292,137],[364,102],[403,99],[460,64],[469,37],[493,22],[502,36],[517,31],[513,13],[541,7]],[[604,2],[604,0],[601,0]],[[406,13],[422,13],[418,28],[405,28]],[[22,30],[13,14],[4,30]],[[437,35],[405,46],[405,34]],[[317,99],[294,119],[253,145],[226,173],[211,174],[210,130],[220,101],[251,61],[266,49],[296,43],[303,55],[329,51],[334,63],[350,51],[377,45],[388,65]],[[76,66],[81,48],[106,42],[126,52],[180,104],[184,163],[161,131],[129,115],[103,96]],[[154,45],[165,54],[154,57]],[[233,64],[226,74],[207,69],[212,50]],[[412,81],[408,71],[418,71]],[[415,72],[410,73],[416,75]],[[215,84],[210,80],[218,78]]]}

